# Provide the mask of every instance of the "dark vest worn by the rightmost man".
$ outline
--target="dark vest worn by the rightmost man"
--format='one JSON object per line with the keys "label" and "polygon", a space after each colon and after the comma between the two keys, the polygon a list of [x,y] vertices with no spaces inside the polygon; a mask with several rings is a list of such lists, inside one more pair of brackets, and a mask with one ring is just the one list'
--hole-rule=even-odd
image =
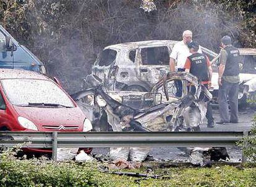
{"label": "dark vest worn by the rightmost man", "polygon": [[224,76],[239,75],[239,50],[234,46],[225,47],[224,50],[228,53],[227,62],[225,65]]}

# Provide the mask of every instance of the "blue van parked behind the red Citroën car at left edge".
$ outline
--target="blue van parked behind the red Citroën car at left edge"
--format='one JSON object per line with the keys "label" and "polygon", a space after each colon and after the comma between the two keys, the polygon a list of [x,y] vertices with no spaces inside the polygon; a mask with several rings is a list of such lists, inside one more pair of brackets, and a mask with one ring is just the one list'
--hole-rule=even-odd
{"label": "blue van parked behind the red Citro\u00ebn car at left edge", "polygon": [[0,68],[46,73],[43,63],[0,25]]}

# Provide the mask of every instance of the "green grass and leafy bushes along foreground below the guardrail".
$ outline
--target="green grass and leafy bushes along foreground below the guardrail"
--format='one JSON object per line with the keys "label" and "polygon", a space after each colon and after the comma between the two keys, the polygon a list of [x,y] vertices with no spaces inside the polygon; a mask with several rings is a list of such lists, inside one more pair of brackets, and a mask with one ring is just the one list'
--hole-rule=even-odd
{"label": "green grass and leafy bushes along foreground below the guardrail", "polygon": [[[152,175],[169,179],[101,173],[100,162],[77,164],[15,159],[12,151],[0,154],[0,186],[255,186],[256,169],[233,166],[211,168],[152,168]],[[123,172],[147,173],[147,167]]]}

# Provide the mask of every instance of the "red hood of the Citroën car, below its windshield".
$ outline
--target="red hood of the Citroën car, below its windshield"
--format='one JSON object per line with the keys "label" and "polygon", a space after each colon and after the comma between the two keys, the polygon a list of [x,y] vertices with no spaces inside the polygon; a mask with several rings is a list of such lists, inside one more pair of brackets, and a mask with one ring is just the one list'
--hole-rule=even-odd
{"label": "red hood of the Citro\u00ebn car, below its windshield", "polygon": [[[85,114],[75,108],[37,108],[14,106],[19,116],[32,121],[39,131],[77,130],[82,131]],[[60,126],[64,127],[60,127]],[[54,129],[54,128],[55,129]],[[60,129],[58,129],[60,127]],[[69,127],[69,128],[65,128]],[[73,127],[73,128],[72,128]],[[74,128],[76,127],[76,128]],[[57,128],[57,129],[56,129]]]}

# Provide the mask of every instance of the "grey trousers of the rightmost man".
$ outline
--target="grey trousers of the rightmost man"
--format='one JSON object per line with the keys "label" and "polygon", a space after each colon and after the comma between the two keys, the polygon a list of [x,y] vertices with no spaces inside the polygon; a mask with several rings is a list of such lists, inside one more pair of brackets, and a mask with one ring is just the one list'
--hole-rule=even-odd
{"label": "grey trousers of the rightmost man", "polygon": [[[230,83],[221,81],[222,86],[219,87],[219,110],[221,122],[237,122],[238,121],[238,88],[239,83]],[[230,117],[228,111],[228,100],[230,106]]]}

